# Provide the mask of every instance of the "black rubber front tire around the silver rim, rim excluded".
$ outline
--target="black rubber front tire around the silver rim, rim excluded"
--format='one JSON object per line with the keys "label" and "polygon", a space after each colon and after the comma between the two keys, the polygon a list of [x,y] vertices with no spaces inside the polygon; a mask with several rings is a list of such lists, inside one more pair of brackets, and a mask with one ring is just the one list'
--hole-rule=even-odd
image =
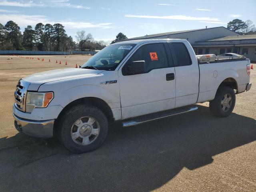
{"label": "black rubber front tire around the silver rim, rim excluded", "polygon": [[[75,143],[71,137],[71,128],[79,118],[90,116],[95,118],[100,125],[100,132],[97,138],[86,146]],[[77,105],[70,108],[60,119],[58,137],[62,144],[72,153],[84,153],[99,148],[108,134],[108,120],[105,114],[98,108],[90,105]]]}

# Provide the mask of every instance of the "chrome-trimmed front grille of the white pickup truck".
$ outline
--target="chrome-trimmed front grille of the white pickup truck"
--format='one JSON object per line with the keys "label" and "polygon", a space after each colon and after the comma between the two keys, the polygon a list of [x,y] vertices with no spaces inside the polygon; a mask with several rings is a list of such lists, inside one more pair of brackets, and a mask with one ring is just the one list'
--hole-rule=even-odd
{"label": "chrome-trimmed front grille of the white pickup truck", "polygon": [[26,92],[29,85],[29,82],[20,79],[14,92],[15,106],[21,111],[26,110]]}

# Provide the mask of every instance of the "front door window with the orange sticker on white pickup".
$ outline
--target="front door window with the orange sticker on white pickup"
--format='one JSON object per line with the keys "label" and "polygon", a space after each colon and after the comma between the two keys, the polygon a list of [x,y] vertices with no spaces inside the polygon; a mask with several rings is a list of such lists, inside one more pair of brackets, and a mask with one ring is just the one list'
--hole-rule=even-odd
{"label": "front door window with the orange sticker on white pickup", "polygon": [[164,44],[162,43],[143,45],[131,56],[126,65],[134,61],[145,61],[145,72],[169,67]]}

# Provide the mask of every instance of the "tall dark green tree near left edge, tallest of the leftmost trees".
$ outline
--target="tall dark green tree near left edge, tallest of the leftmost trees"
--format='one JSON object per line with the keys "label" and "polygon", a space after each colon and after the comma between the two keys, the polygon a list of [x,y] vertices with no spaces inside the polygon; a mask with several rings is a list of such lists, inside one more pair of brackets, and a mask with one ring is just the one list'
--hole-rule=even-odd
{"label": "tall dark green tree near left edge, tallest of the leftmost trees", "polygon": [[12,44],[14,50],[20,50],[21,47],[21,32],[20,27],[13,21],[8,21],[4,29],[7,32],[6,39]]}

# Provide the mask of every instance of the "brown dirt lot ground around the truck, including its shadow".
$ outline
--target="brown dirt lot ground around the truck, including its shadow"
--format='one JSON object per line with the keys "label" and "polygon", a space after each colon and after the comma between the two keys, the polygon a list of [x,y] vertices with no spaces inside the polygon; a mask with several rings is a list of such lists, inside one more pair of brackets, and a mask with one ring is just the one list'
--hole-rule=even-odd
{"label": "brown dirt lot ground around the truck, including its shadow", "polygon": [[13,93],[23,76],[81,65],[90,56],[33,57],[0,56],[1,192],[256,191],[256,65],[251,90],[236,96],[228,118],[214,118],[206,102],[185,115],[113,125],[101,148],[76,155],[56,139],[18,133]]}

